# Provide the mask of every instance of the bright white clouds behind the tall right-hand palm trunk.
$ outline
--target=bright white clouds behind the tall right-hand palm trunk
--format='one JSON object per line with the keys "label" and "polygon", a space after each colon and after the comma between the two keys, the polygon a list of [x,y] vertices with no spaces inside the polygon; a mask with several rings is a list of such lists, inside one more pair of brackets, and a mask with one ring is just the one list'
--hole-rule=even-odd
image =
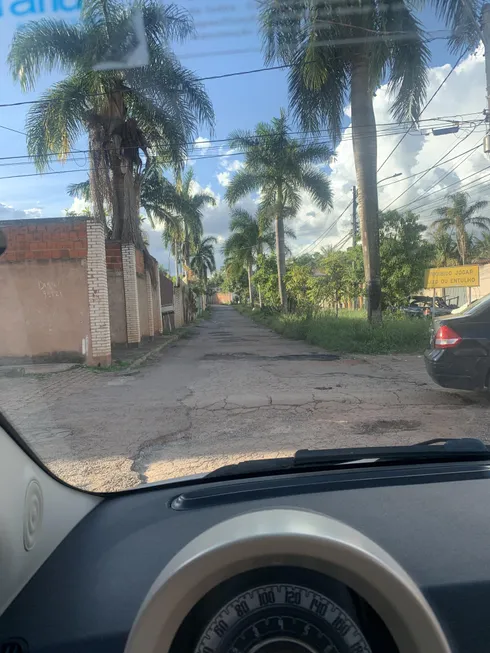
{"label": "bright white clouds behind the tall right-hand palm trunk", "polygon": [[[481,110],[485,106],[484,65],[482,52],[465,59],[451,74],[423,113],[420,132],[415,133],[416,130],[411,130],[411,133],[392,154],[388,163],[383,166],[378,175],[379,180],[398,172],[401,172],[402,175],[396,179],[386,180],[379,186],[379,206],[381,210],[388,207],[391,202],[393,204],[390,208],[402,208],[408,202],[417,200],[420,197],[422,199],[411,204],[407,207],[407,210],[413,208],[416,212],[420,212],[421,220],[426,224],[430,224],[433,220],[432,211],[435,206],[443,204],[447,193],[455,192],[460,188],[459,185],[454,185],[445,190],[446,186],[458,182],[468,175],[478,173],[467,181],[463,181],[461,186],[471,181],[475,181],[476,184],[479,179],[488,174],[489,171],[482,172],[481,175],[478,172],[489,165],[487,157],[483,154],[483,149],[478,147],[466,160],[466,157],[462,156],[449,163],[443,162],[437,165],[434,170],[424,176],[423,179],[420,179],[420,182],[417,181],[411,189],[409,187],[417,180],[417,177],[407,179],[407,177],[411,177],[417,172],[434,166],[455,145],[456,147],[447,155],[447,158],[452,159],[472,147],[481,145],[484,127],[476,127],[474,132],[470,134],[476,123],[471,126],[461,125],[458,134],[446,136],[433,136],[428,129],[424,129],[424,125],[428,124],[425,122],[428,118],[455,116],[457,120],[457,116],[473,112],[475,112],[474,116],[463,115],[460,120],[472,118],[475,121],[480,121],[483,118]],[[445,65],[432,68],[429,71],[427,98],[430,98],[436,91],[449,70],[450,66]],[[380,134],[378,138],[378,166],[388,157],[405,132],[404,126],[400,126],[399,133],[383,136],[383,131],[393,131],[393,128],[390,129],[386,126],[387,123],[392,124],[394,122],[390,113],[391,103],[392,98],[389,97],[387,88],[384,86],[376,93],[374,100],[378,133]],[[350,115],[350,107],[346,107],[345,113]],[[351,201],[352,186],[356,184],[356,175],[350,129],[346,130],[344,138],[337,148],[336,160],[330,166],[332,169],[330,179],[334,192],[334,210],[329,214],[325,214],[312,205],[308,197],[304,198],[302,208],[294,221],[294,227],[298,235],[296,245],[293,248],[296,251],[312,243],[315,238],[320,236]],[[457,168],[451,172],[455,166]],[[441,180],[446,173],[449,174],[445,179]],[[438,180],[441,180],[440,184],[437,184]],[[490,176],[487,177],[487,182],[490,183]],[[430,194],[424,196],[424,192],[430,189],[433,184],[435,185],[429,190]],[[488,194],[487,188],[488,186],[483,182],[474,190],[472,190],[472,187],[468,188],[472,201],[482,199],[484,195],[486,196]],[[397,200],[397,197],[405,190],[407,192]],[[437,190],[441,192],[436,193]],[[334,229],[319,243],[319,247],[337,243],[350,230],[350,221],[351,209],[349,208]]]}

